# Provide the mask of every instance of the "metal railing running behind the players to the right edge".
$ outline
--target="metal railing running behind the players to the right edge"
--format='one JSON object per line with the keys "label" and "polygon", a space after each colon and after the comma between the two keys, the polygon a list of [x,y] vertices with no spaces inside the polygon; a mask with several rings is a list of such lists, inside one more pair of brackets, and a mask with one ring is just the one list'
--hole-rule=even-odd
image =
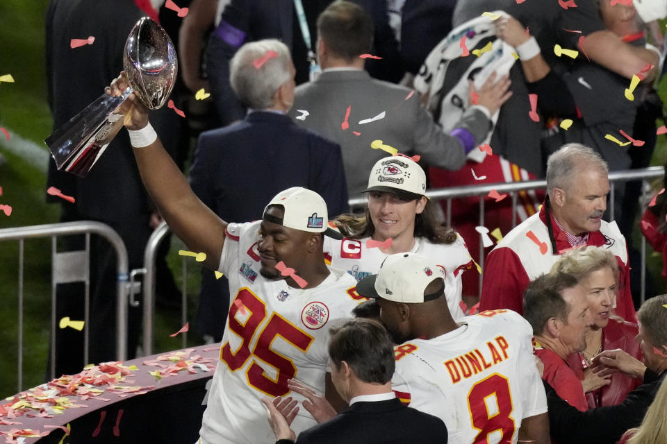
{"label": "metal railing running behind the players to the right edge", "polygon": [[[633,169],[625,171],[614,171],[609,173],[609,183],[611,191],[609,193],[609,212],[611,214],[611,219],[614,219],[614,196],[615,188],[618,182],[629,182],[635,180],[641,180],[643,185],[647,183],[648,180],[657,179],[663,177],[665,174],[663,167],[650,167],[646,169]],[[516,221],[516,207],[518,205],[518,193],[520,191],[531,191],[538,189],[546,189],[547,182],[545,180],[527,180],[523,182],[509,182],[509,183],[488,183],[483,185],[466,185],[463,187],[456,188],[440,188],[440,189],[429,189],[427,190],[426,195],[434,201],[446,200],[446,212],[445,220],[447,225],[452,225],[452,200],[456,198],[465,198],[471,196],[480,197],[479,199],[479,225],[484,225],[485,219],[485,202],[484,196],[486,196],[491,190],[495,189],[498,193],[507,193],[511,197],[512,202],[512,226],[517,225]],[[352,198],[349,200],[349,206],[352,208],[363,207],[367,204],[365,197],[360,196]],[[160,245],[160,242],[163,241],[164,237],[170,233],[169,227],[166,223],[160,224],[158,228],[153,232],[151,238],[148,241],[145,251],[145,268],[142,268],[142,273],[145,273],[144,285],[143,285],[143,300],[144,300],[144,338],[143,338],[143,348],[144,352],[147,355],[150,355],[152,352],[152,343],[153,343],[153,317],[154,317],[154,292],[155,292],[155,272],[154,272],[154,258],[155,253]],[[642,237],[641,239],[641,301],[645,300],[645,279],[646,279],[646,239]],[[484,267],[484,245],[479,242],[479,266]],[[183,277],[185,281],[185,277]],[[479,276],[479,287],[481,289],[481,275]],[[186,295],[183,291],[183,301],[185,301]],[[185,303],[183,302],[183,307]],[[183,323],[186,322],[185,315],[183,316]],[[185,345],[183,345],[185,347]]]}

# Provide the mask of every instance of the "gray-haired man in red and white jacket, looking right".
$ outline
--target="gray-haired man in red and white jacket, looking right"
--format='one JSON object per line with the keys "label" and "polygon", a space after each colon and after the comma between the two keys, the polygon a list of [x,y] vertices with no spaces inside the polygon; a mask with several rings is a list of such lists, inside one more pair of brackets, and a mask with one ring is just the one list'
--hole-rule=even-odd
{"label": "gray-haired man in red and white jacket, looking right", "polygon": [[609,194],[607,162],[591,148],[567,144],[547,160],[547,198],[538,214],[511,230],[489,253],[480,309],[522,313],[523,292],[563,251],[584,245],[611,251],[618,262],[616,314],[635,321],[625,237],[602,220]]}

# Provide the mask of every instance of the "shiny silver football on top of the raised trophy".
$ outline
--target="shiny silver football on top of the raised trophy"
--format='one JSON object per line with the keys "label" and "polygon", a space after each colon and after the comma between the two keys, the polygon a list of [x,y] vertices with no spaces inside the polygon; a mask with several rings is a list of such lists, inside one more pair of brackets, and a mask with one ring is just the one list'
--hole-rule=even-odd
{"label": "shiny silver football on top of the raised trophy", "polygon": [[130,31],[123,67],[134,93],[150,110],[165,104],[176,83],[179,62],[172,39],[162,26],[142,17]]}

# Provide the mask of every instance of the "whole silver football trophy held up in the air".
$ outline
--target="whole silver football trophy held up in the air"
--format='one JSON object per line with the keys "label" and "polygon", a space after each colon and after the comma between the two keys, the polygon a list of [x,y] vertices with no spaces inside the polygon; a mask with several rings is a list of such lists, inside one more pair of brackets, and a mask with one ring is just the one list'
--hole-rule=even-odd
{"label": "whole silver football trophy held up in the air", "polygon": [[123,67],[130,87],[118,97],[99,99],[44,139],[58,169],[84,178],[123,126],[113,112],[134,92],[147,108],[157,110],[167,101],[178,72],[176,49],[166,31],[149,17],[132,28],[125,42]]}

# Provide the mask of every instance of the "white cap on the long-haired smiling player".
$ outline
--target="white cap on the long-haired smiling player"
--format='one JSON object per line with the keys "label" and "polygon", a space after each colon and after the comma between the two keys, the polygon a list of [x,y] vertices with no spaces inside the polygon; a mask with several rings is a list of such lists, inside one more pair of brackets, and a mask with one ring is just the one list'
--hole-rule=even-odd
{"label": "white cap on the long-haired smiling player", "polygon": [[409,157],[383,157],[370,171],[366,191],[386,191],[406,200],[418,199],[426,194],[426,173]]}

